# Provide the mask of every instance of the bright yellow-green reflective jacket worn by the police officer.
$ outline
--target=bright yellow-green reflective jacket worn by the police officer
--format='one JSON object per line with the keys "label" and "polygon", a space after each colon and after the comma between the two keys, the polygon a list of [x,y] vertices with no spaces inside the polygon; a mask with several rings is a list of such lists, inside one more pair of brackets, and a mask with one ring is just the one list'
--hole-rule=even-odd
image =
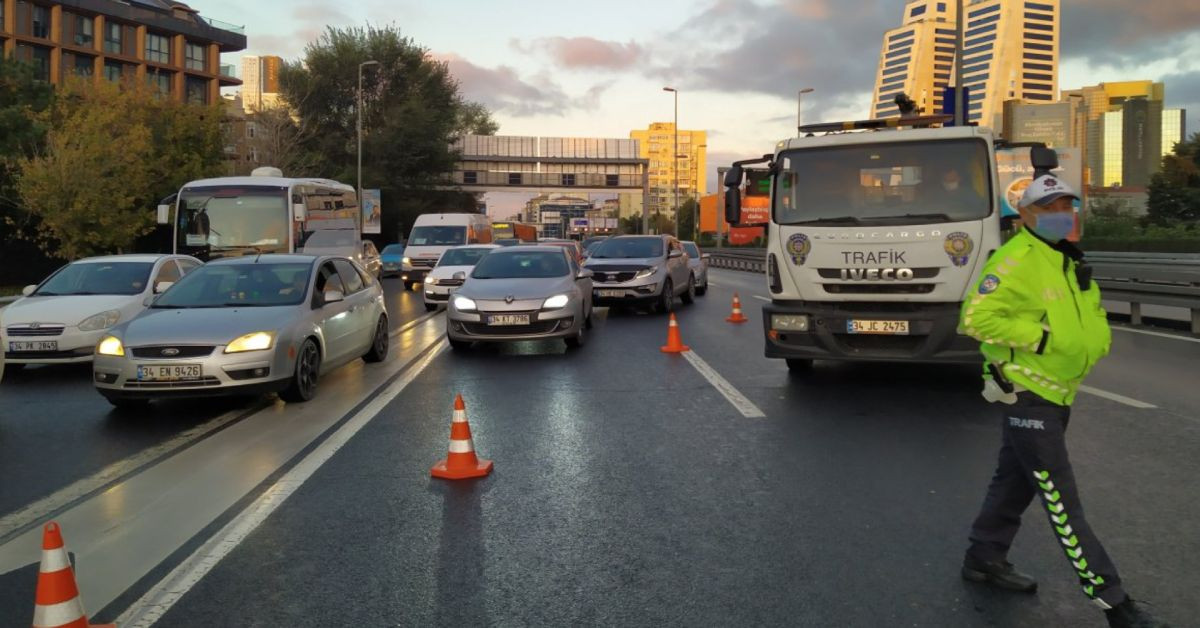
{"label": "bright yellow-green reflective jacket worn by the police officer", "polygon": [[1112,331],[1100,289],[1079,287],[1082,257],[1022,229],[984,265],[962,304],[961,327],[983,342],[984,358],[1038,396],[1069,406],[1092,366],[1109,353]]}

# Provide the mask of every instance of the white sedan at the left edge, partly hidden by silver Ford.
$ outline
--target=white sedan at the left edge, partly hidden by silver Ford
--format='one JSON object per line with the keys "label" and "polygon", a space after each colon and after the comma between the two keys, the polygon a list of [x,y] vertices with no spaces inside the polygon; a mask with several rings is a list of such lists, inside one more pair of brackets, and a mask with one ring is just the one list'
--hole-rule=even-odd
{"label": "white sedan at the left edge, partly hidden by silver Ford", "polygon": [[104,330],[145,310],[154,294],[202,265],[180,255],[116,255],[71,262],[0,310],[8,366],[91,361]]}

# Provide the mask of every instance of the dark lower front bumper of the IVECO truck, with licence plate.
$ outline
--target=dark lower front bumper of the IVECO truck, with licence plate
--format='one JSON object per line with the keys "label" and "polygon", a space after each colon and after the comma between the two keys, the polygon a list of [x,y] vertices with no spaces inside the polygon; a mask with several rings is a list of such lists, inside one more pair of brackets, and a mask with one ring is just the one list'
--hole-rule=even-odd
{"label": "dark lower front bumper of the IVECO truck, with licence plate", "polygon": [[[979,364],[979,342],[958,333],[960,309],[958,303],[772,301],[762,309],[766,355]],[[773,328],[780,315],[790,318]]]}

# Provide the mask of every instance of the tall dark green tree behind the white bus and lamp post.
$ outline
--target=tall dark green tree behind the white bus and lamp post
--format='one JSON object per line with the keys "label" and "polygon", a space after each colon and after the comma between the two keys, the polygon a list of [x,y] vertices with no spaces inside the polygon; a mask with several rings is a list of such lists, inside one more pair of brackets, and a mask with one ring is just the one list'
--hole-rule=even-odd
{"label": "tall dark green tree behind the white bus and lamp post", "polygon": [[444,62],[388,28],[330,28],[280,73],[284,101],[311,134],[304,149],[323,177],[356,180],[356,91],[364,68],[362,185],[383,192],[384,233],[398,233],[419,213],[472,208],[474,195],[446,190],[458,155],[454,138],[494,132],[478,103],[458,95]]}

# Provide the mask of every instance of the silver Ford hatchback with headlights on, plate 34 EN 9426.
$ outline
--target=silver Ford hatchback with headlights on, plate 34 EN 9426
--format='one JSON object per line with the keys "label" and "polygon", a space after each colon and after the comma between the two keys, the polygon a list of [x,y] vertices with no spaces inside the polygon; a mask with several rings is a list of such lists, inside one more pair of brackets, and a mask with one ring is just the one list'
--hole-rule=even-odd
{"label": "silver Ford hatchback with headlights on, plate 34 EN 9426", "polygon": [[320,372],[388,355],[383,289],[344,257],[218,259],[96,346],[94,384],[114,406],[161,397],[317,394]]}

